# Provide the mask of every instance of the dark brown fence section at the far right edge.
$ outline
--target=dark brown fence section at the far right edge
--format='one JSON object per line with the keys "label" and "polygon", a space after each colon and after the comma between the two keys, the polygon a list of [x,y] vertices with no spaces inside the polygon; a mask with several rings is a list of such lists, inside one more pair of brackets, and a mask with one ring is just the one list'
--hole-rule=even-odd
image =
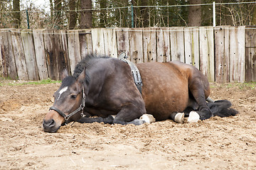
{"label": "dark brown fence section at the far right edge", "polygon": [[245,81],[256,81],[256,27],[245,30]]}

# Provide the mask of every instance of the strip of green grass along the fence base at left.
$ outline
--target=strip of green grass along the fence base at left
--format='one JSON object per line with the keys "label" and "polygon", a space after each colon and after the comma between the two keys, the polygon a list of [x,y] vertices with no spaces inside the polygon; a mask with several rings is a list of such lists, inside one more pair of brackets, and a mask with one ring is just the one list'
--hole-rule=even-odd
{"label": "strip of green grass along the fence base at left", "polygon": [[56,81],[52,79],[44,79],[40,81],[21,81],[21,80],[11,80],[0,77],[0,86],[22,86],[26,84],[56,84],[61,81]]}

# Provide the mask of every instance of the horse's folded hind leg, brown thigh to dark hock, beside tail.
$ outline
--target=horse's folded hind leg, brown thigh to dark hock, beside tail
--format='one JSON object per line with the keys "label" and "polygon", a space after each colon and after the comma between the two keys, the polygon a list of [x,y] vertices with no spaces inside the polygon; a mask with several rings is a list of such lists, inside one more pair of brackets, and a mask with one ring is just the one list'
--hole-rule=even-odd
{"label": "horse's folded hind leg, brown thigh to dark hock, beside tail", "polygon": [[210,108],[206,105],[206,96],[208,96],[206,93],[210,93],[210,87],[207,85],[205,88],[203,81],[206,81],[205,83],[208,84],[208,81],[203,79],[203,77],[196,77],[188,82],[188,89],[191,91],[196,103],[198,103],[198,111],[196,113],[198,113],[201,120],[213,116]]}

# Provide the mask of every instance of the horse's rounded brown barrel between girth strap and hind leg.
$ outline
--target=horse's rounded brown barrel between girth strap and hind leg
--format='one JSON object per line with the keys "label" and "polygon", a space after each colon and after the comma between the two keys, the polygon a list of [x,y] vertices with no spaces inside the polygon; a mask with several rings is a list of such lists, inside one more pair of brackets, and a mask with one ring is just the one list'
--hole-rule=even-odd
{"label": "horse's rounded brown barrel between girth strap and hind leg", "polygon": [[[188,73],[176,62],[137,64],[142,74],[142,97],[146,112],[165,120],[188,106]],[[188,67],[189,69],[189,67]]]}

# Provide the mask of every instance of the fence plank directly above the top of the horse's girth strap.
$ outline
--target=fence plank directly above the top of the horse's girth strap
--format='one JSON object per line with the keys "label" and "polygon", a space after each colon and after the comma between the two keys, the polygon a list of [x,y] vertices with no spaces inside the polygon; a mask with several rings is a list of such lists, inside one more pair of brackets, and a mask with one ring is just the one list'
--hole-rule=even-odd
{"label": "fence plank directly above the top of the horse's girth strap", "polygon": [[131,61],[129,52],[129,28],[115,28],[117,33],[117,55],[125,52],[128,59]]}

